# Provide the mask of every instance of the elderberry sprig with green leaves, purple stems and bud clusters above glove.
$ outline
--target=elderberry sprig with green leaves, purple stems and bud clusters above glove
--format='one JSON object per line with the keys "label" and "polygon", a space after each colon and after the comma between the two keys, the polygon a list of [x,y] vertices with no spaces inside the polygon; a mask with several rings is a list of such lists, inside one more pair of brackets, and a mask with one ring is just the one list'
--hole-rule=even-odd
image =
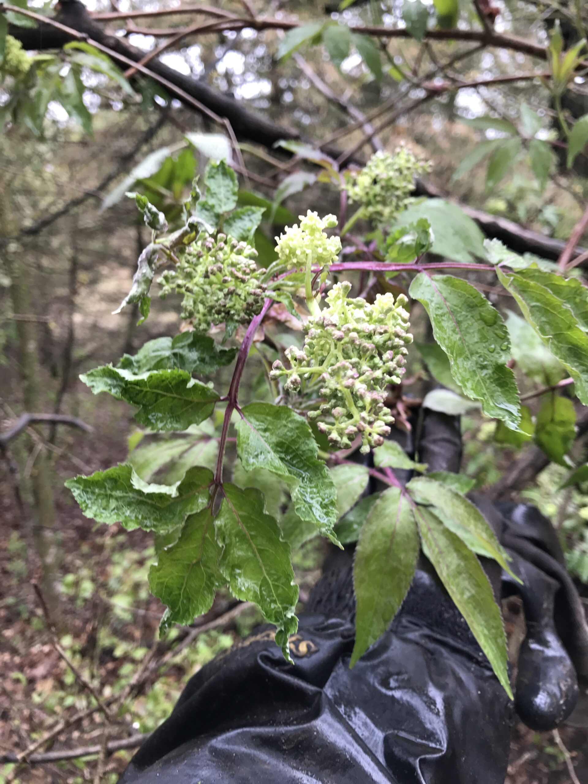
{"label": "elderberry sprig with green leaves, purple stems and bud clusters above glove", "polygon": [[[166,159],[181,183],[187,151]],[[339,172],[324,154],[311,160],[323,181],[343,187],[340,214],[308,209],[275,247],[260,227],[284,209],[239,191],[224,161],[207,166],[204,194],[191,183],[181,209],[130,194],[152,234],[121,308],[137,303],[144,321],[158,275],[161,296],[178,300],[183,331],[82,376],[95,393],[136,408],[140,444],[127,462],[67,487],[96,521],[154,533],[149,583],[167,606],[162,632],[207,612],[216,592],[228,590],[274,623],[289,661],[296,546],[313,535],[339,546],[358,541],[352,665],[394,618],[422,549],[510,693],[502,619],[477,560],[492,557],[509,570],[508,556],[466,499],[468,477],[427,474],[417,455],[387,438],[394,422],[411,426],[411,383],[423,372],[405,379],[407,362],[419,363],[409,314],[414,301],[426,310],[434,343],[418,354],[445,386],[426,394],[424,408],[481,408],[497,440],[534,438],[565,465],[572,402],[554,391],[534,416],[521,406],[512,365],[535,383],[573,382],[588,405],[586,289],[543,260],[484,243],[455,205],[412,198],[426,165],[404,147],[376,154],[361,172]],[[348,221],[347,201],[360,205]],[[360,220],[364,233],[350,234]],[[505,324],[468,276],[503,285],[522,316],[511,312]],[[275,324],[298,329],[290,341],[271,339]],[[248,363],[266,376],[270,397],[254,384],[244,402]],[[231,365],[221,394],[206,377],[218,382]],[[547,437],[554,427],[555,440]],[[150,432],[169,435],[156,441]],[[354,450],[372,455],[352,462]],[[414,474],[407,485],[397,468]],[[364,497],[370,476],[387,489]]]}

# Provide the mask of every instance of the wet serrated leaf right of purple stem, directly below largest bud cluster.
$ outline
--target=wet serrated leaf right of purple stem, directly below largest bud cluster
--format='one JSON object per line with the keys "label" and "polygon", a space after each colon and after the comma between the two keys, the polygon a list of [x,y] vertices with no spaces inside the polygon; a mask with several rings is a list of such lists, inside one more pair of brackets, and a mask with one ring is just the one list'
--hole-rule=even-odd
{"label": "wet serrated leaf right of purple stem, directly below largest bud cluster", "polygon": [[306,419],[285,406],[250,403],[237,425],[237,452],[245,470],[267,468],[292,492],[302,520],[338,543],[336,488],[327,466],[317,458],[318,445]]}

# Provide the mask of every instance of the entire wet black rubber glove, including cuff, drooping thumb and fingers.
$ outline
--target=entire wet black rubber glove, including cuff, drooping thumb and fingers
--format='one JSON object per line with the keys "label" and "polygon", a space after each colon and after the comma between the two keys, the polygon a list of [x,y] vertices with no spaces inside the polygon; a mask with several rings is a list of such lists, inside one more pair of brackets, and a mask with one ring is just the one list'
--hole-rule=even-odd
{"label": "entire wet black rubber glove, including cuff, drooping thumb and fingers", "polygon": [[[412,434],[394,434],[408,454],[430,470],[459,470],[459,419],[426,412],[415,430],[418,450]],[[534,507],[472,500],[525,583],[481,559],[495,597],[519,593],[527,615],[517,710],[532,727],[554,728],[574,709],[588,657],[557,535]],[[325,562],[290,640],[294,665],[270,628],[218,656],[188,681],[120,784],[503,784],[514,705],[423,556],[390,629],[349,669],[351,558],[333,550]]]}

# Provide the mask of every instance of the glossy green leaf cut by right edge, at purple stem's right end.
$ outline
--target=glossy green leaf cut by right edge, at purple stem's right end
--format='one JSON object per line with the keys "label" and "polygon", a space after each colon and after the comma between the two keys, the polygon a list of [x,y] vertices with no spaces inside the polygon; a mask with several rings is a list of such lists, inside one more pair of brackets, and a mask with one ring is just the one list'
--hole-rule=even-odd
{"label": "glossy green leaf cut by right edge, at purple stem's right end", "polygon": [[529,324],[574,379],[579,400],[588,405],[588,336],[572,310],[564,307],[562,300],[545,286],[521,273],[507,274],[501,269],[497,272]]}

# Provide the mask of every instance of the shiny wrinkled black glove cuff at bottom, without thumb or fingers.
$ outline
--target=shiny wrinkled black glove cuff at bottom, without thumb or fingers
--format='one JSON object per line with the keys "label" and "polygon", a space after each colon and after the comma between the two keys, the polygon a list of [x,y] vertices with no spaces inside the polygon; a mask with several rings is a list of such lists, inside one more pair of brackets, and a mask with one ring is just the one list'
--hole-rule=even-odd
{"label": "shiny wrinkled black glove cuff at bottom, without thumb or fingers", "polygon": [[512,705],[434,576],[350,670],[339,575],[347,617],[302,615],[294,666],[267,630],[203,667],[121,784],[502,784]]}

